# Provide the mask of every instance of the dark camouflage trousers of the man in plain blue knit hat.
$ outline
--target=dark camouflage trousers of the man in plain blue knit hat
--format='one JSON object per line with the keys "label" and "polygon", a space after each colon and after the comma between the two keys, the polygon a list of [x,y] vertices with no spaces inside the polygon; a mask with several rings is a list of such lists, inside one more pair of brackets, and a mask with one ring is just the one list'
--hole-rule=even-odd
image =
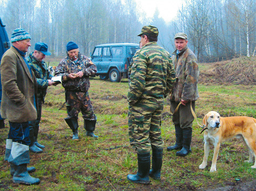
{"label": "dark camouflage trousers of the man in plain blue knit hat", "polygon": [[88,92],[65,91],[67,115],[70,119],[78,119],[81,111],[82,118],[94,120],[95,115]]}

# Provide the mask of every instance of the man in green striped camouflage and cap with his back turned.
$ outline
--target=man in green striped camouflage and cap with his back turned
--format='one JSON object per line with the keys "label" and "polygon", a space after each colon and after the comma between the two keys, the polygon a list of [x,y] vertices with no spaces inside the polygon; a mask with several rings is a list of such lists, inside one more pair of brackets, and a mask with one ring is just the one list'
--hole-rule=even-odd
{"label": "man in green striped camouflage and cap with his back turned", "polygon": [[161,178],[164,145],[161,113],[164,98],[174,85],[175,71],[170,54],[156,43],[156,27],[144,26],[138,36],[141,37],[142,48],[133,57],[127,96],[129,139],[137,152],[138,172],[129,174],[127,178],[132,182],[148,184],[149,175],[154,179]]}

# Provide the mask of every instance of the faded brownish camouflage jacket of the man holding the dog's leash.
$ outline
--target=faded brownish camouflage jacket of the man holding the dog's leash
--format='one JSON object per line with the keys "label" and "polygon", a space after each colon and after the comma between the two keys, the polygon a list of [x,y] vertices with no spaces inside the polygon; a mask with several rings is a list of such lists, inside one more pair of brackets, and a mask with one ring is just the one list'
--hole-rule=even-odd
{"label": "faded brownish camouflage jacket of the man holding the dog's leash", "polygon": [[172,53],[172,62],[176,72],[176,83],[171,92],[170,100],[196,101],[199,98],[197,83],[199,70],[196,55],[185,47],[180,53],[177,50]]}

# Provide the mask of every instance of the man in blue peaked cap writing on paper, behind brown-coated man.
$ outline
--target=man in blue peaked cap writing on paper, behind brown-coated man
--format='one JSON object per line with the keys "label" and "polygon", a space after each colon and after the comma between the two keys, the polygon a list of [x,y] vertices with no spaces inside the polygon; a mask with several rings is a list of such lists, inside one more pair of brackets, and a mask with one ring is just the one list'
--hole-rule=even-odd
{"label": "man in blue peaked cap writing on paper, behind brown-coated man", "polygon": [[52,76],[49,74],[49,71],[47,70],[47,65],[43,61],[45,55],[51,55],[51,53],[48,52],[48,46],[46,45],[46,43],[37,42],[36,45],[34,45],[34,52],[30,53],[29,56],[26,57],[26,61],[29,63],[32,71],[34,72],[34,76],[36,76],[37,79],[37,119],[29,122],[29,150],[34,153],[43,152],[42,149],[45,148],[44,145],[39,144],[37,141],[39,123],[41,120],[41,110],[42,104],[44,103],[47,87],[55,84],[55,82],[52,82],[52,80],[50,80]]}

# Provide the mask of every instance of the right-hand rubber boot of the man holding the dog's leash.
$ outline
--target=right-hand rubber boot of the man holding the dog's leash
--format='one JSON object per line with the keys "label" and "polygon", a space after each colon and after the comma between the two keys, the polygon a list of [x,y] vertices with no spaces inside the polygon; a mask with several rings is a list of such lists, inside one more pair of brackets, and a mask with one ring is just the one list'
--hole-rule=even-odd
{"label": "right-hand rubber boot of the man holding the dog's leash", "polygon": [[192,128],[183,129],[183,148],[182,150],[176,152],[176,156],[185,157],[191,152],[190,144],[192,139]]}

